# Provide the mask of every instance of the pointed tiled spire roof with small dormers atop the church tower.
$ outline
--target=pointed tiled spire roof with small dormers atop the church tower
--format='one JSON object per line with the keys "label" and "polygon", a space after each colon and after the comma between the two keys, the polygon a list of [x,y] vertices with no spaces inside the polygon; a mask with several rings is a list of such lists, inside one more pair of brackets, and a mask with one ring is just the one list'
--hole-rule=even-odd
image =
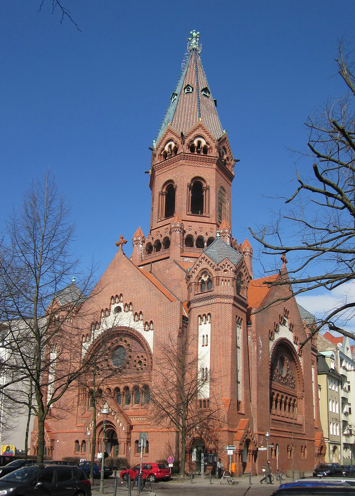
{"label": "pointed tiled spire roof with small dormers atop the church tower", "polygon": [[[201,45],[195,39],[188,45],[188,56],[171,94],[170,103],[155,138],[156,142],[161,138],[168,123],[177,131],[185,133],[200,118],[215,138],[223,134],[200,52]],[[192,92],[185,92],[188,85],[191,86]]]}

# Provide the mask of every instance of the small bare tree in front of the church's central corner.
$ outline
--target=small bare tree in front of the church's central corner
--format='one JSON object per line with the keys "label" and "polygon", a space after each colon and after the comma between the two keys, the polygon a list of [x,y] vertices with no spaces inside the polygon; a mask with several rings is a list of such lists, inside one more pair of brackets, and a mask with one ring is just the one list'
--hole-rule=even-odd
{"label": "small bare tree in front of the church's central corner", "polygon": [[206,398],[206,386],[211,387],[211,377],[207,370],[202,374],[197,368],[196,340],[189,338],[187,328],[181,331],[177,341],[175,339],[170,336],[166,345],[162,345],[162,358],[153,366],[151,402],[157,425],[164,425],[179,434],[179,478],[183,479],[189,434],[199,425],[208,424],[209,428],[216,428],[220,419],[215,399],[208,400],[207,408],[199,408],[200,397]]}

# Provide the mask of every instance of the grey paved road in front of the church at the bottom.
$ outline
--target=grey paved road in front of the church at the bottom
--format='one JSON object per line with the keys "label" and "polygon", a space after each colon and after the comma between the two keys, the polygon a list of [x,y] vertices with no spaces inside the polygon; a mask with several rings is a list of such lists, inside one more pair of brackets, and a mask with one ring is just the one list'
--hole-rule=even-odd
{"label": "grey paved road in front of the church at the bottom", "polygon": [[[142,496],[270,496],[279,487],[279,483],[274,481],[272,485],[266,485],[265,482],[260,484],[261,476],[251,478],[251,486],[249,486],[249,477],[244,476],[236,478],[237,483],[229,486],[227,481],[219,484],[219,479],[212,478],[210,485],[209,477],[202,478],[196,476],[193,484],[189,479],[184,482],[175,479],[166,482],[158,482],[152,484],[152,492],[144,488]],[[285,482],[291,482],[286,479]],[[104,494],[113,495],[114,478],[110,477],[104,481]],[[99,496],[100,481],[95,481],[95,485],[91,488],[93,496]],[[128,496],[128,488],[120,478],[117,480],[117,496]],[[137,496],[137,488],[132,490],[132,496]]]}

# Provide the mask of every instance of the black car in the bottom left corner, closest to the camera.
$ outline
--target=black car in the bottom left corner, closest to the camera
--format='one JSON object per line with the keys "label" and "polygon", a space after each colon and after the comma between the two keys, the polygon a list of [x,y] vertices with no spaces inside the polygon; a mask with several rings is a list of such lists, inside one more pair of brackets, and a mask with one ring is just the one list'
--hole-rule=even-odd
{"label": "black car in the bottom left corner, closest to the camera", "polygon": [[1,477],[0,495],[91,496],[91,484],[80,468],[38,463]]}

